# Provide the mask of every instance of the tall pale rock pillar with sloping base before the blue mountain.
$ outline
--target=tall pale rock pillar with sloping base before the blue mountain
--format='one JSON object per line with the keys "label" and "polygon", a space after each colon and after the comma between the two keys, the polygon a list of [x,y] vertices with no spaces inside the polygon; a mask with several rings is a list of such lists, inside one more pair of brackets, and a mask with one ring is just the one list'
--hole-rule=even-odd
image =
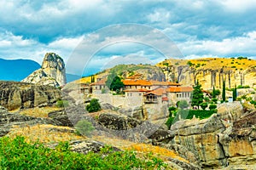
{"label": "tall pale rock pillar with sloping base before the blue mountain", "polygon": [[40,69],[32,72],[21,82],[35,83],[38,85],[63,86],[67,83],[66,70],[63,59],[58,54],[47,53],[44,56]]}

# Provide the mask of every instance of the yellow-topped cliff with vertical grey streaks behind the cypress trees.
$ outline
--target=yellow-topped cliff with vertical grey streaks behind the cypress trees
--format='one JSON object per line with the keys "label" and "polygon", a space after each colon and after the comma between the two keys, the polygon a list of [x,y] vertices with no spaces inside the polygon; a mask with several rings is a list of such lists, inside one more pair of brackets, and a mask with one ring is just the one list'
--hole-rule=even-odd
{"label": "yellow-topped cliff with vertical grey streaks behind the cypress trees", "polygon": [[235,85],[256,85],[256,60],[253,59],[166,59],[158,64],[166,79],[183,85],[194,85],[196,80],[204,89],[226,88]]}

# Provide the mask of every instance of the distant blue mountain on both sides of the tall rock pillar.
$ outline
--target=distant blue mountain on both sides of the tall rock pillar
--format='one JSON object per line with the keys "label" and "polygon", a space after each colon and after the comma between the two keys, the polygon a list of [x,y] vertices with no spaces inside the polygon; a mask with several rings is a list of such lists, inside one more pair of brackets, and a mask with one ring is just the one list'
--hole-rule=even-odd
{"label": "distant blue mountain on both sides of the tall rock pillar", "polygon": [[[0,80],[20,82],[39,68],[41,65],[31,59],[0,59]],[[66,75],[67,82],[81,78],[73,74]]]}

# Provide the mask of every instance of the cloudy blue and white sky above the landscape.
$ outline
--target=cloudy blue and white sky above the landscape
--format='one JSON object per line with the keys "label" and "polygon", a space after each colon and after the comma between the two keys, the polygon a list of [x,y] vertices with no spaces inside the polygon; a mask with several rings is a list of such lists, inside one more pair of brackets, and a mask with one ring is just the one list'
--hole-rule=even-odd
{"label": "cloudy blue and white sky above the landscape", "polygon": [[77,75],[170,57],[256,59],[255,11],[256,0],[2,0],[0,58],[40,64],[54,52]]}

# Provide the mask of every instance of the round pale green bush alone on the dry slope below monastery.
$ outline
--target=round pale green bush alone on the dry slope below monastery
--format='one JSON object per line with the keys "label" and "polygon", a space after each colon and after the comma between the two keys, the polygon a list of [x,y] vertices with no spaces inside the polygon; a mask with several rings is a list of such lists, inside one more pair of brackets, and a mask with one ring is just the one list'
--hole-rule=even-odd
{"label": "round pale green bush alone on the dry slope below monastery", "polygon": [[77,122],[77,124],[74,126],[77,130],[77,133],[79,135],[85,135],[85,136],[90,136],[91,132],[95,129],[91,122],[87,120],[80,120]]}

